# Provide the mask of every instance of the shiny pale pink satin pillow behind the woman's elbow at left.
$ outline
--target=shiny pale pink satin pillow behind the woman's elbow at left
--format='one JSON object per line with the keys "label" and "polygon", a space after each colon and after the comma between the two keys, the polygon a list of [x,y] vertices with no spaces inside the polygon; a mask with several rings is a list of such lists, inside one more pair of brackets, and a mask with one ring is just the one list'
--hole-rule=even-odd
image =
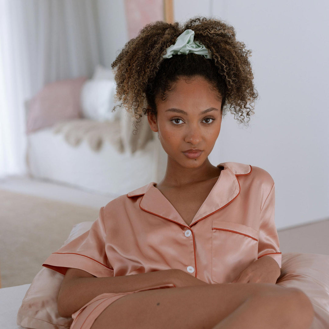
{"label": "shiny pale pink satin pillow behind the woman's elbow at left", "polygon": [[[87,232],[92,223],[92,221],[86,221],[74,225],[64,244]],[[35,329],[69,329],[73,321],[72,317],[60,316],[57,309],[57,296],[63,278],[63,274],[42,267],[33,279],[18,310],[18,325]]]}

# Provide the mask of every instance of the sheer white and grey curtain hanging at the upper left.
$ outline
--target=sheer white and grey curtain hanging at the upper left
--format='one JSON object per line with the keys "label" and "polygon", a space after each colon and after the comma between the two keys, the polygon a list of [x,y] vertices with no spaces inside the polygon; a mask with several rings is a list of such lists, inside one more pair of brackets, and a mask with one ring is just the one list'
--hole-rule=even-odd
{"label": "sheer white and grey curtain hanging at the upper left", "polygon": [[0,178],[26,173],[24,100],[102,63],[97,2],[0,0]]}

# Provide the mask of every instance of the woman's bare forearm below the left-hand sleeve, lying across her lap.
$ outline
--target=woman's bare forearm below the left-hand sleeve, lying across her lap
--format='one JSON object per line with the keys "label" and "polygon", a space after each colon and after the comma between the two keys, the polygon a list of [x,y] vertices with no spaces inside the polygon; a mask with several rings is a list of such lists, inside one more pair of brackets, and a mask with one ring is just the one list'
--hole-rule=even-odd
{"label": "woman's bare forearm below the left-hand sleeve, lying across her lap", "polygon": [[69,317],[96,296],[106,292],[128,292],[173,283],[178,269],[114,277],[76,277],[63,282],[58,295],[60,316]]}

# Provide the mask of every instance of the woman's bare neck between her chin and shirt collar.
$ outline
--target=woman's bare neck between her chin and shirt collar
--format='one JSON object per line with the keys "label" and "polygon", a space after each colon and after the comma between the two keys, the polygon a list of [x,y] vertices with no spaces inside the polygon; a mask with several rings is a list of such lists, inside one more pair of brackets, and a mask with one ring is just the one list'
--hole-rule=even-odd
{"label": "woman's bare neck between her chin and shirt collar", "polygon": [[182,187],[218,177],[221,169],[212,165],[208,158],[196,168],[186,168],[167,158],[167,168],[164,178],[157,185],[166,187]]}

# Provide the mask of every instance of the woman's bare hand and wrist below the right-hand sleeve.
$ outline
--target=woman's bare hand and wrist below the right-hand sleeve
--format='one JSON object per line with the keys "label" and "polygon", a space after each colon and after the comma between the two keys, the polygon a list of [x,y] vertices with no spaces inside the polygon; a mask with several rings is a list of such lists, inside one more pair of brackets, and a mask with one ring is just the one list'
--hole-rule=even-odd
{"label": "woman's bare hand and wrist below the right-hand sleeve", "polygon": [[262,256],[244,269],[232,283],[276,283],[281,270],[270,256]]}

